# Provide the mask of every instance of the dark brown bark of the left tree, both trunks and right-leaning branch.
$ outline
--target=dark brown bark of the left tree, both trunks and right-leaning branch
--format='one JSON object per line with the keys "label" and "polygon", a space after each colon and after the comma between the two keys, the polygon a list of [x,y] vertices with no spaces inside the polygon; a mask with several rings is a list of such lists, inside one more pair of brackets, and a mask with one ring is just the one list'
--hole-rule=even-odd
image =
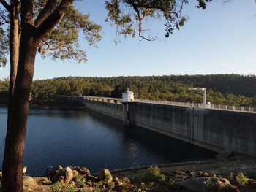
{"label": "dark brown bark of the left tree, both trunks and right-leaning branch", "polygon": [[[13,0],[12,2],[18,2]],[[49,0],[50,1],[50,0]],[[5,138],[3,177],[1,192],[23,191],[23,152],[26,140],[26,122],[29,112],[29,95],[34,75],[34,60],[40,40],[56,26],[63,18],[64,13],[73,0],[62,0],[58,7],[48,15],[42,14],[45,20],[38,27],[34,26],[33,0],[21,0],[20,9],[20,46],[17,56],[17,30],[18,17],[12,15],[13,22],[10,31],[11,62],[13,64],[10,74],[10,105],[7,120],[7,135]],[[0,0],[1,2],[1,0]],[[13,6],[13,4],[12,4]],[[13,8],[13,7],[12,7]],[[12,13],[11,13],[12,14]],[[47,16],[47,17],[46,17]],[[12,42],[13,41],[13,42]],[[18,61],[17,76],[15,77],[15,64]]]}

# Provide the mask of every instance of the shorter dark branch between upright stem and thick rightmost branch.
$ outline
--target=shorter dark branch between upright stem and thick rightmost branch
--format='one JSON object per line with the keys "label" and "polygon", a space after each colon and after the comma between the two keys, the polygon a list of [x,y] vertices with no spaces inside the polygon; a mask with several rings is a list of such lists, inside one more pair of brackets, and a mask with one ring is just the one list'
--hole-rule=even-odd
{"label": "shorter dark branch between upright stem and thick rightmost branch", "polygon": [[45,4],[45,7],[41,10],[37,19],[34,21],[34,26],[39,26],[53,11],[53,8],[56,6],[57,0],[48,0]]}

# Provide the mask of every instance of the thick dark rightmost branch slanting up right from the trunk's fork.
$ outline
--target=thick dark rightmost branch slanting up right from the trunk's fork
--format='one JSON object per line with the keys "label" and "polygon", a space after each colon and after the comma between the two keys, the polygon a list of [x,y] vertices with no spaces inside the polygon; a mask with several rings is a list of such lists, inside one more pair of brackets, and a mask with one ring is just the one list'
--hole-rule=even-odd
{"label": "thick dark rightmost branch slanting up right from the trunk's fork", "polygon": [[67,9],[71,6],[74,0],[62,0],[58,7],[46,18],[37,30],[37,38],[42,39],[57,23],[63,18]]}

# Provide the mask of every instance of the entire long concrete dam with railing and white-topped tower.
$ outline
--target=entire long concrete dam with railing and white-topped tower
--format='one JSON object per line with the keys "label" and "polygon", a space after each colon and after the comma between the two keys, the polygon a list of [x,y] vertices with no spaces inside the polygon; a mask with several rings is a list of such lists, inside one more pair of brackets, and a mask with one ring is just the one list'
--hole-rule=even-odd
{"label": "entire long concrete dam with railing and white-topped tower", "polygon": [[[95,96],[65,96],[93,110],[219,153],[256,155],[256,108]],[[133,94],[133,93],[132,93]]]}

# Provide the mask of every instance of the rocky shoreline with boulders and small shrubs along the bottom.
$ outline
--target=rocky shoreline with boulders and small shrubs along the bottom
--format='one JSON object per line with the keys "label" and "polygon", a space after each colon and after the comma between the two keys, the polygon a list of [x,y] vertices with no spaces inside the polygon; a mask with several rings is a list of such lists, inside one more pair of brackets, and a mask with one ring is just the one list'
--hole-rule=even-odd
{"label": "rocky shoreline with boulders and small shrubs along the bottom", "polygon": [[48,169],[47,177],[24,176],[24,191],[45,192],[256,192],[256,158],[192,161],[91,174],[78,166]]}

